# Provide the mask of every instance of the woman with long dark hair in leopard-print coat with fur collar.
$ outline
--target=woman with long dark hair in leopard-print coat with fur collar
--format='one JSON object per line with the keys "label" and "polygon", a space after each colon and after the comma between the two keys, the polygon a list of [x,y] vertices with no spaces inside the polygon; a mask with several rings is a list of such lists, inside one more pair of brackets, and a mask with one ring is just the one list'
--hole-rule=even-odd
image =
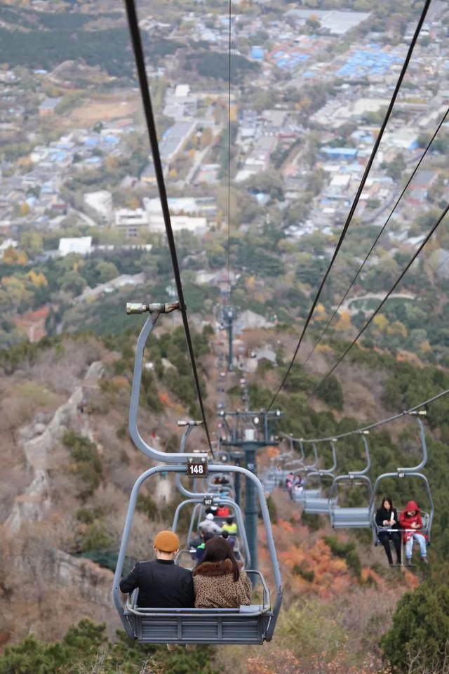
{"label": "woman with long dark hair in leopard-print coat with fur collar", "polygon": [[251,602],[251,583],[239,569],[231,546],[215,536],[206,543],[203,559],[194,568],[196,608],[234,609]]}

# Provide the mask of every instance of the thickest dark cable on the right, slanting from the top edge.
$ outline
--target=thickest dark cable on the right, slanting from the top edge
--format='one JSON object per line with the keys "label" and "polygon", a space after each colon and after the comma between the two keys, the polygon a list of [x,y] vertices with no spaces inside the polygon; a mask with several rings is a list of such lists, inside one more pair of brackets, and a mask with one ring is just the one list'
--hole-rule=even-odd
{"label": "thickest dark cable on the right, slanting from the top edge", "polygon": [[271,409],[271,408],[272,408],[272,406],[273,406],[273,404],[274,404],[274,401],[276,400],[276,397],[278,397],[279,392],[281,392],[281,390],[282,390],[282,388],[283,388],[283,385],[286,383],[286,381],[287,381],[287,379],[288,379],[288,376],[290,375],[290,371],[291,371],[291,369],[292,369],[292,367],[293,367],[293,364],[295,363],[295,359],[296,359],[297,353],[298,353],[298,351],[300,350],[300,346],[301,346],[301,344],[302,344],[302,340],[304,339],[304,334],[305,334],[305,332],[307,331],[307,327],[309,326],[309,323],[310,323],[310,321],[311,321],[311,317],[313,316],[314,310],[315,310],[315,308],[316,308],[316,305],[318,304],[319,298],[321,297],[321,293],[322,293],[322,291],[323,291],[324,284],[326,284],[326,281],[327,281],[328,276],[329,276],[329,274],[330,274],[330,270],[332,269],[333,264],[335,263],[335,259],[337,258],[337,255],[338,255],[338,253],[339,253],[339,251],[340,251],[340,248],[342,247],[344,238],[346,237],[346,234],[347,234],[347,230],[349,229],[349,225],[351,224],[352,218],[353,218],[354,213],[355,213],[355,211],[356,211],[356,207],[358,206],[358,201],[360,200],[361,194],[362,194],[362,192],[363,192],[363,188],[365,187],[366,180],[368,179],[368,175],[369,175],[369,173],[370,173],[371,166],[373,166],[373,162],[374,162],[374,160],[375,160],[375,157],[376,157],[376,154],[377,154],[377,150],[379,149],[379,146],[380,146],[380,141],[382,140],[382,137],[383,137],[383,135],[384,135],[385,128],[387,127],[389,118],[391,117],[391,112],[393,112],[394,104],[396,103],[396,98],[397,98],[397,96],[398,96],[399,90],[401,89],[402,81],[403,81],[403,79],[404,79],[404,77],[405,77],[405,75],[406,75],[406,72],[407,72],[407,70],[408,70],[408,65],[409,65],[409,63],[410,63],[410,59],[412,58],[413,50],[414,50],[414,48],[415,48],[415,44],[416,44],[416,42],[417,42],[417,39],[418,39],[418,37],[419,37],[419,35],[420,35],[421,29],[422,29],[422,25],[423,25],[424,20],[425,20],[425,18],[426,18],[427,11],[428,11],[428,9],[429,9],[430,4],[431,4],[431,0],[426,0],[426,2],[425,2],[425,4],[424,4],[424,7],[423,7],[423,9],[422,9],[422,13],[421,13],[421,16],[420,16],[420,20],[418,21],[417,27],[416,27],[416,29],[415,29],[415,34],[413,35],[413,39],[412,39],[412,41],[410,42],[410,46],[409,46],[409,48],[408,48],[408,53],[407,53],[407,55],[406,55],[406,60],[403,62],[403,66],[402,66],[402,68],[401,68],[401,74],[399,74],[398,81],[396,82],[396,86],[395,86],[395,88],[394,88],[394,93],[393,93],[393,95],[391,96],[391,100],[390,100],[390,103],[389,103],[387,112],[386,112],[386,114],[385,114],[384,121],[382,121],[382,126],[380,127],[380,131],[379,131],[379,133],[378,133],[378,135],[377,135],[377,138],[376,138],[376,140],[375,140],[375,144],[374,144],[374,146],[373,146],[373,150],[372,150],[372,152],[371,152],[370,159],[368,159],[368,164],[366,164],[365,171],[363,172],[363,176],[362,176],[360,185],[358,185],[358,189],[357,189],[357,192],[356,192],[356,196],[354,197],[354,201],[352,202],[351,209],[349,210],[349,213],[348,213],[348,216],[347,216],[347,220],[346,220],[346,222],[344,223],[344,227],[343,227],[342,232],[341,232],[341,234],[340,234],[340,239],[338,239],[338,243],[337,243],[337,246],[336,246],[335,251],[334,251],[334,253],[333,253],[332,259],[330,260],[330,263],[329,263],[329,265],[328,265],[328,268],[327,268],[327,270],[326,270],[326,273],[324,274],[323,279],[321,280],[321,284],[320,284],[320,286],[319,286],[318,292],[316,293],[316,296],[315,296],[315,298],[314,298],[314,301],[313,301],[313,303],[312,303],[312,305],[311,305],[311,308],[310,308],[310,310],[309,310],[309,314],[307,315],[307,319],[306,319],[306,321],[305,321],[305,323],[304,323],[304,326],[303,326],[303,328],[302,328],[302,332],[301,332],[301,335],[300,335],[300,339],[299,339],[299,341],[298,341],[298,343],[297,343],[297,346],[296,346],[296,348],[295,348],[295,352],[293,353],[293,358],[291,359],[290,364],[289,364],[289,366],[288,366],[288,369],[287,369],[287,371],[286,371],[286,374],[284,374],[283,379],[282,379],[282,381],[281,381],[281,384],[279,385],[279,388],[278,388],[278,389],[276,390],[276,392],[274,393],[274,396],[272,397],[272,400],[271,400],[271,402],[269,403],[269,406],[268,406],[267,409]]}

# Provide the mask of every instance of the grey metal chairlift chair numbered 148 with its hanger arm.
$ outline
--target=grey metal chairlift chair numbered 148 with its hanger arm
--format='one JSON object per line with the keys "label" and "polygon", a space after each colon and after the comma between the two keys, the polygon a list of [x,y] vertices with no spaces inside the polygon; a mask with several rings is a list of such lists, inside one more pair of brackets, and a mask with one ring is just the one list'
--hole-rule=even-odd
{"label": "grey metal chairlift chair numbered 148 with its hanger arm", "polygon": [[[140,397],[140,383],[142,378],[142,364],[145,343],[156,320],[163,313],[179,310],[179,303],[173,304],[140,304],[128,303],[128,314],[142,314],[149,312],[135,350],[135,364],[133,383],[131,386],[129,430],[130,437],[140,451],[153,461],[161,461],[163,465],[156,465],[142,473],[136,480],[131,491],[128,512],[123,527],[119,556],[114,573],[113,598],[123,628],[128,637],[142,644],[174,643],[174,644],[262,644],[272,640],[274,628],[279,616],[282,603],[282,579],[277,560],[276,548],[269,518],[267,503],[260,480],[246,468],[236,465],[210,465],[210,473],[229,473],[243,475],[251,480],[259,498],[262,520],[267,534],[267,546],[272,562],[274,582],[276,584],[276,598],[271,604],[270,592],[264,576],[257,570],[248,570],[250,578],[258,577],[262,586],[262,602],[250,606],[241,606],[238,609],[155,609],[138,606],[138,590],[128,595],[126,603],[121,601],[119,583],[123,573],[123,563],[126,557],[126,548],[133,522],[135,505],[138,500],[140,487],[149,477],[159,473],[175,473],[182,475],[187,472],[187,465],[192,461],[207,461],[207,454],[179,454],[162,452],[151,447],[140,435],[138,430],[138,408]],[[169,465],[167,465],[169,464]]]}

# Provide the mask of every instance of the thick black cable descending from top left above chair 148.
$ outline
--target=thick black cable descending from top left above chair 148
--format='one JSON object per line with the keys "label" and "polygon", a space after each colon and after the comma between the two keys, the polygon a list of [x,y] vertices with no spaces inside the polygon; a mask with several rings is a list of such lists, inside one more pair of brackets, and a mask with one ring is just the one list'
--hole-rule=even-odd
{"label": "thick black cable descending from top left above chair 148", "polygon": [[134,0],[125,0],[126,14],[128,16],[128,25],[130,29],[131,41],[133,44],[133,51],[135,56],[135,65],[138,71],[138,79],[140,86],[140,93],[142,95],[143,109],[145,112],[145,120],[147,122],[147,130],[149,136],[149,143],[152,149],[154,173],[156,174],[157,186],[159,190],[159,199],[161,201],[161,208],[163,213],[163,221],[166,227],[166,234],[168,240],[168,248],[170,250],[170,257],[173,265],[173,275],[175,277],[175,284],[177,289],[177,297],[180,303],[180,310],[182,314],[182,324],[184,325],[185,338],[187,341],[187,350],[189,351],[190,362],[192,365],[192,373],[194,376],[194,383],[196,388],[196,395],[198,397],[199,407],[201,409],[201,417],[206,431],[208,446],[213,454],[212,444],[210,442],[210,434],[206,420],[206,413],[204,410],[203,396],[201,394],[201,387],[199,384],[198,371],[196,369],[196,361],[194,355],[194,348],[192,345],[192,336],[189,328],[189,320],[187,318],[187,310],[184,299],[184,291],[182,289],[182,281],[180,275],[180,267],[177,261],[177,252],[175,237],[173,235],[173,228],[171,226],[170,210],[168,209],[168,200],[166,185],[163,178],[163,169],[161,163],[161,156],[159,154],[159,143],[157,140],[156,121],[154,119],[151,95],[149,93],[149,84],[147,79],[147,70],[145,68],[145,58],[142,47],[142,40],[140,38],[140,30],[138,25],[138,16],[135,11]]}

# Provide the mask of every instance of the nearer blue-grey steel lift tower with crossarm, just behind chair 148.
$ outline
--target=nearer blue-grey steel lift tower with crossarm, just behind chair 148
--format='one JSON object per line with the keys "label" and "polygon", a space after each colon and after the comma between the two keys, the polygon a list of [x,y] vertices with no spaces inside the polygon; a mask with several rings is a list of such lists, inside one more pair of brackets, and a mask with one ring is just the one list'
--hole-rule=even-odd
{"label": "nearer blue-grey steel lift tower with crossarm, just behind chair 148", "polygon": [[[276,442],[276,439],[269,434],[269,421],[274,421],[281,416],[279,409],[273,411],[233,411],[222,410],[220,418],[222,419],[227,437],[222,438],[221,444],[233,447],[232,458],[241,465],[244,461],[244,468],[257,475],[257,450]],[[236,502],[240,504],[240,483],[235,484]],[[250,478],[245,477],[245,529],[248,536],[248,545],[250,548],[251,564],[253,569],[257,569],[257,498],[254,483]]]}

